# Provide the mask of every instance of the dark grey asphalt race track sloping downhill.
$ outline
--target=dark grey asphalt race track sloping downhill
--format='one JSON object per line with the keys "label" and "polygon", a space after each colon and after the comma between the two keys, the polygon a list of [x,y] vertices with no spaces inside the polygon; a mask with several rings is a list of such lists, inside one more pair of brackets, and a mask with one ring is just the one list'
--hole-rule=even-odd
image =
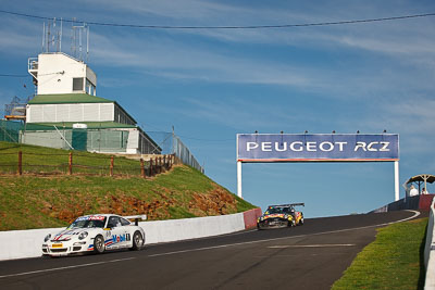
{"label": "dark grey asphalt race track sloping downhill", "polygon": [[137,252],[3,261],[0,289],[330,289],[376,228],[418,214],[311,218]]}

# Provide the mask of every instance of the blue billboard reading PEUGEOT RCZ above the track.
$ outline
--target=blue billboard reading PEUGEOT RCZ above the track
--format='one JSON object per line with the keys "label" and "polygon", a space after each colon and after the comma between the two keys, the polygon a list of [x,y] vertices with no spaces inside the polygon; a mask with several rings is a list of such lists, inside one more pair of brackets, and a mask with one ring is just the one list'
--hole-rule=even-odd
{"label": "blue billboard reading PEUGEOT RCZ above the track", "polygon": [[397,134],[238,134],[239,162],[398,161]]}

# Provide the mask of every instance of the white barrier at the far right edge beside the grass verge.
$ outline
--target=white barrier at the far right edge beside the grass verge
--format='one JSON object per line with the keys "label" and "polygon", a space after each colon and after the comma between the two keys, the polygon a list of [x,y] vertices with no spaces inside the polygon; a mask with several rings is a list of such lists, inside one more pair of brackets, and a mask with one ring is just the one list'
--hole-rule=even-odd
{"label": "white barrier at the far right edge beside the grass verge", "polygon": [[424,266],[426,267],[425,290],[435,290],[435,199],[431,204],[427,224],[426,244],[424,247]]}

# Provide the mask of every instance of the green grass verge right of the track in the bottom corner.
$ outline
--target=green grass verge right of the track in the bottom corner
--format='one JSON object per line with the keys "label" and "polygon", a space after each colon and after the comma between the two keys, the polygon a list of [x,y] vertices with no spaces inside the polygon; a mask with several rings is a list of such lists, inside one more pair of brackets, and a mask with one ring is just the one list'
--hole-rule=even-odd
{"label": "green grass verge right of the track in the bottom corner", "polygon": [[427,218],[377,229],[332,289],[423,289]]}

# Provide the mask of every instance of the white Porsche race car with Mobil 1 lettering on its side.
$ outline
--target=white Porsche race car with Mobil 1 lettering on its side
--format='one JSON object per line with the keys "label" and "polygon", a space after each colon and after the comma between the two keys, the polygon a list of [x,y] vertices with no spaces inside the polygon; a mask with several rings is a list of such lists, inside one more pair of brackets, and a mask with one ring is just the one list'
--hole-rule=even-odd
{"label": "white Porsche race car with Mobil 1 lettering on its side", "polygon": [[[44,239],[42,255],[62,256],[74,253],[128,248],[139,250],[145,244],[145,231],[138,226],[146,215],[119,216],[114,214],[85,215],[66,229]],[[135,219],[132,224],[128,219]]]}

